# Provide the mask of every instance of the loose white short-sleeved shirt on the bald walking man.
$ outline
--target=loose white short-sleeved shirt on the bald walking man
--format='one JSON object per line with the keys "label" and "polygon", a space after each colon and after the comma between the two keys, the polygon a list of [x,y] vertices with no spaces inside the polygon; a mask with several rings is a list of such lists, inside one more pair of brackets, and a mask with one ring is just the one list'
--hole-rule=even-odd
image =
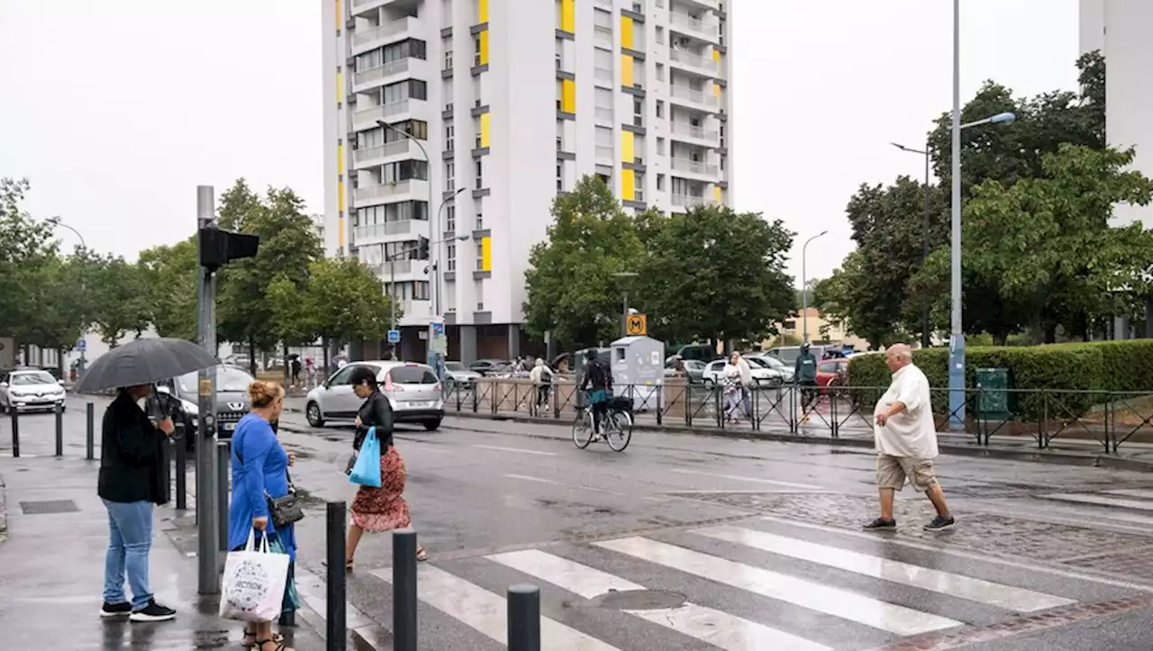
{"label": "loose white short-sleeved shirt on the bald walking man", "polygon": [[[884,425],[875,424],[876,415],[886,412],[895,402],[903,402],[905,410],[890,416]],[[892,373],[892,384],[877,401],[873,417],[873,434],[879,453],[921,460],[936,459],[936,424],[929,404],[929,380],[917,366],[909,364]]]}

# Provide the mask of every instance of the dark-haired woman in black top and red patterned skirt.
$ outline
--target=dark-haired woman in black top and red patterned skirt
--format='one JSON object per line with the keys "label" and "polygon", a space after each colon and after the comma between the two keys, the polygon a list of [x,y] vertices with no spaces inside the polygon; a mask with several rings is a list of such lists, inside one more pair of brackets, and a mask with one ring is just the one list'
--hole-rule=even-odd
{"label": "dark-haired woman in black top and red patterned skirt", "polygon": [[[389,399],[380,393],[376,369],[357,366],[349,381],[356,395],[364,399],[356,415],[353,449],[360,452],[368,431],[372,427],[376,427],[376,438],[380,441],[380,487],[361,486],[349,507],[353,521],[348,523],[345,569],[351,571],[356,545],[366,531],[379,533],[392,529],[405,529],[412,527],[413,521],[408,513],[408,502],[404,498],[407,478],[405,460],[400,457],[392,440],[392,407]],[[352,463],[348,468],[352,469]],[[416,547],[416,560],[428,560],[424,547]]]}

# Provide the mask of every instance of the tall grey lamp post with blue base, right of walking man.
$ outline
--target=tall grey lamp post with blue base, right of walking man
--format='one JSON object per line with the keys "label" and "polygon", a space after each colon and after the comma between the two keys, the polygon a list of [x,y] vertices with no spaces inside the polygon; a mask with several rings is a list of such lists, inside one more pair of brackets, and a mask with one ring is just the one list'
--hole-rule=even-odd
{"label": "tall grey lamp post with blue base, right of walking man", "polygon": [[960,321],[960,0],[952,1],[952,315],[949,336],[949,426],[965,425],[965,335]]}

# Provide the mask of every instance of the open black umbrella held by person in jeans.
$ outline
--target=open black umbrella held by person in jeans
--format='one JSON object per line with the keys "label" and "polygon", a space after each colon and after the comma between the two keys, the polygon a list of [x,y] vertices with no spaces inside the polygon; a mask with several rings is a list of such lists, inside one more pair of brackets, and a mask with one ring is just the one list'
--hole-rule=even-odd
{"label": "open black umbrella held by person in jeans", "polygon": [[152,384],[202,369],[220,361],[183,339],[137,339],[100,355],[76,385],[76,393]]}

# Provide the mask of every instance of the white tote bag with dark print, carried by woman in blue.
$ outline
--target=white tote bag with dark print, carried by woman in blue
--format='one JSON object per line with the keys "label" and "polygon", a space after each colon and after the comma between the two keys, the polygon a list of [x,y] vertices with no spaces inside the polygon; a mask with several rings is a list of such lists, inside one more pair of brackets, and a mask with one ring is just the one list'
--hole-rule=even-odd
{"label": "white tote bag with dark print, carried by woman in blue", "polygon": [[240,552],[228,552],[220,586],[220,616],[247,622],[272,621],[280,616],[288,582],[288,554],[269,551],[267,535],[256,548],[255,531]]}

